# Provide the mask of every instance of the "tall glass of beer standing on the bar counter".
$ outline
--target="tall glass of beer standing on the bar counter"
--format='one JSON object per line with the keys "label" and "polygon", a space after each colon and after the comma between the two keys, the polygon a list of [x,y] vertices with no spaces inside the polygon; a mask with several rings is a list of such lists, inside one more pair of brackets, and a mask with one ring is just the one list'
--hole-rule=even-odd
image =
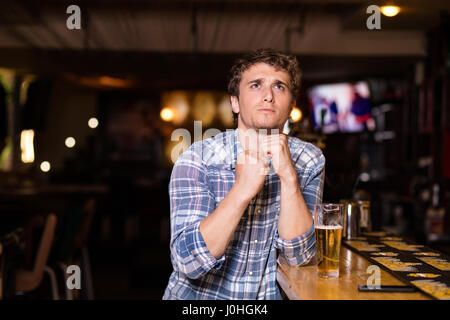
{"label": "tall glass of beer standing on the bar counter", "polygon": [[343,222],[343,204],[323,203],[314,205],[317,267],[321,278],[339,277],[339,253]]}

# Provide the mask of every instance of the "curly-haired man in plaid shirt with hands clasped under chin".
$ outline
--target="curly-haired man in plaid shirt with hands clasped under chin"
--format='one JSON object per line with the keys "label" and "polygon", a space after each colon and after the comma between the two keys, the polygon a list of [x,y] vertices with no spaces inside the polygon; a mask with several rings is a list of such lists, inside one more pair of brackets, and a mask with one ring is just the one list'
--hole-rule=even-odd
{"label": "curly-haired man in plaid shirt with hands clasped under chin", "polygon": [[169,184],[174,271],[163,299],[281,299],[277,256],[315,254],[320,149],[281,130],[295,105],[295,57],[260,49],[231,69],[237,129],[196,142]]}

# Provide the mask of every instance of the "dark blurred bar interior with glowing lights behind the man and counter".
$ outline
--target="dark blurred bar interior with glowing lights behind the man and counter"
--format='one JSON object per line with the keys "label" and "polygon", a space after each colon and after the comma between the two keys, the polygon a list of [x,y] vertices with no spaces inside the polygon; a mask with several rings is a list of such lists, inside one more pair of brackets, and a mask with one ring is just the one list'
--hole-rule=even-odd
{"label": "dark blurred bar interior with glowing lights behind the man and counter", "polygon": [[[373,29],[370,5],[399,12]],[[161,299],[173,162],[206,130],[234,128],[228,71],[258,48],[298,57],[285,130],[323,150],[324,201],[369,200],[374,230],[449,253],[449,9],[2,1],[0,297]],[[79,290],[65,290],[69,265]]]}

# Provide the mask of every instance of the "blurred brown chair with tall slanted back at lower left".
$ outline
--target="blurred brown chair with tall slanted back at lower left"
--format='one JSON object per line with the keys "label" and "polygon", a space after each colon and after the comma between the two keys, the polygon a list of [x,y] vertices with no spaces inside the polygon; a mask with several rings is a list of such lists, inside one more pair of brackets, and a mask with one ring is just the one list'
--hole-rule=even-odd
{"label": "blurred brown chair with tall slanted back at lower left", "polygon": [[39,243],[33,270],[20,269],[15,273],[16,293],[30,292],[37,289],[42,283],[44,272],[47,272],[50,276],[53,299],[59,300],[56,275],[51,268],[46,266],[55,234],[56,222],[56,215],[50,213],[45,221],[45,227]]}

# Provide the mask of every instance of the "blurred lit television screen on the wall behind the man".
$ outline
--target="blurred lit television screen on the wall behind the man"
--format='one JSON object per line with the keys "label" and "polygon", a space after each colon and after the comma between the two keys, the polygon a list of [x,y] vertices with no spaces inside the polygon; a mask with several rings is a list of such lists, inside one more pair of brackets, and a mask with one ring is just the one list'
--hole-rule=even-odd
{"label": "blurred lit television screen on the wall behind the man", "polygon": [[361,132],[373,120],[366,82],[323,84],[308,90],[314,131]]}

